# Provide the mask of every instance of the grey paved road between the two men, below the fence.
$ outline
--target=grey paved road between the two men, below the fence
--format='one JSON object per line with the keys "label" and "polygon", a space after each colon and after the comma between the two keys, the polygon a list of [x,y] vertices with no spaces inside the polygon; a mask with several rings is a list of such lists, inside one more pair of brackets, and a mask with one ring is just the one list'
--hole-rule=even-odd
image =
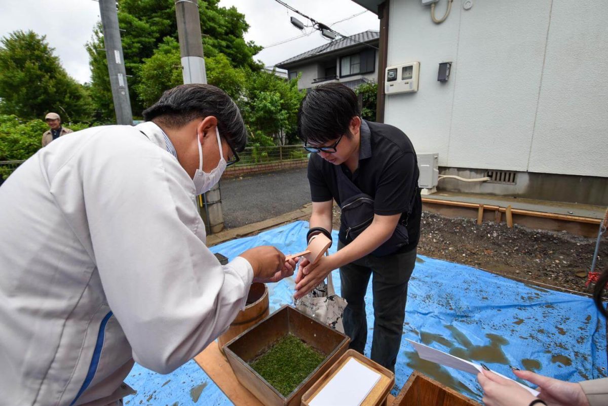
{"label": "grey paved road between the two men, below the fence", "polygon": [[219,187],[227,229],[292,212],[310,202],[306,168],[224,179]]}

